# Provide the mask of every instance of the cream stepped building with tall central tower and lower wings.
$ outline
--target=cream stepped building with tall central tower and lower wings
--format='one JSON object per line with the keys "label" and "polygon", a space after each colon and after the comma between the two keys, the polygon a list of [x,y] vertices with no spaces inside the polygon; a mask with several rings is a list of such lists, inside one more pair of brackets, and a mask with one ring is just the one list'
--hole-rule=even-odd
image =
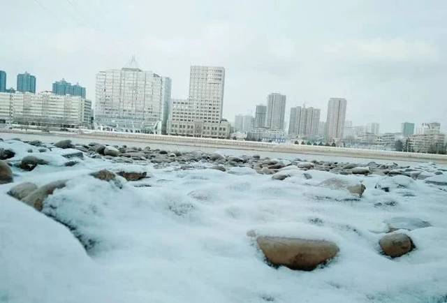
{"label": "cream stepped building with tall central tower and lower wings", "polygon": [[225,68],[191,66],[189,98],[170,103],[170,135],[229,138],[230,124],[222,119]]}

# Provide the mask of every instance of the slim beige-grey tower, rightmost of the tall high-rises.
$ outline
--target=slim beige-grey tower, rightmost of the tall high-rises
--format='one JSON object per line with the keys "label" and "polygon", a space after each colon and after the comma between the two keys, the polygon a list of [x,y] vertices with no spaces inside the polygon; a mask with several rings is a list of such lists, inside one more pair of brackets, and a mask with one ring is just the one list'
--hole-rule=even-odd
{"label": "slim beige-grey tower, rightmost of the tall high-rises", "polygon": [[346,118],[346,99],[330,98],[328,102],[328,140],[338,142],[343,139],[344,120]]}

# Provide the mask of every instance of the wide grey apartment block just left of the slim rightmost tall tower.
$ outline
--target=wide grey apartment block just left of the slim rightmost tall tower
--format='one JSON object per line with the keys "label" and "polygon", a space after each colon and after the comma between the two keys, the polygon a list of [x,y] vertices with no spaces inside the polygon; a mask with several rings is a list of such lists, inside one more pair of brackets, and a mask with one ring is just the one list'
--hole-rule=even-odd
{"label": "wide grey apartment block just left of the slim rightmost tall tower", "polygon": [[320,124],[320,110],[297,106],[291,108],[291,117],[288,124],[288,135],[291,137],[318,135]]}

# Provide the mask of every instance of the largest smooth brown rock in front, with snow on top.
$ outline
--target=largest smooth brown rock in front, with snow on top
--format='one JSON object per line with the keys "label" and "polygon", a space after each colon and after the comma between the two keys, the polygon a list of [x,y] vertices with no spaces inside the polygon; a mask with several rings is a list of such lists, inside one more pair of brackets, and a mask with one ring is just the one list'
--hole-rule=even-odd
{"label": "largest smooth brown rock in front, with snow on top", "polygon": [[307,271],[328,263],[339,251],[337,244],[325,240],[258,237],[256,242],[273,265]]}

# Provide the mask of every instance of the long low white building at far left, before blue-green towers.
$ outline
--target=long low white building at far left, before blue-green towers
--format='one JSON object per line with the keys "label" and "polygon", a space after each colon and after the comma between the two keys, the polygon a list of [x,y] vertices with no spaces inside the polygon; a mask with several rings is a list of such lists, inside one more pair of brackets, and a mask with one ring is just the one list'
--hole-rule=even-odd
{"label": "long low white building at far left, before blue-green towers", "polygon": [[89,127],[91,101],[50,91],[39,94],[0,93],[0,119],[31,126]]}

